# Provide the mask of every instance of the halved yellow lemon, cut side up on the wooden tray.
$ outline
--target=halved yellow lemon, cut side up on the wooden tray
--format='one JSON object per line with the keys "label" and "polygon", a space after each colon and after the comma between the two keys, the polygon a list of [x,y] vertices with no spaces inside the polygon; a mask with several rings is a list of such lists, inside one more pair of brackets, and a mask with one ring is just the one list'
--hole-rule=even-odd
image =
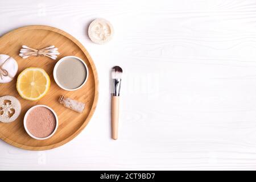
{"label": "halved yellow lemon, cut side up on the wooden tray", "polygon": [[49,90],[51,80],[42,68],[26,68],[18,76],[16,88],[19,95],[30,101],[44,97]]}

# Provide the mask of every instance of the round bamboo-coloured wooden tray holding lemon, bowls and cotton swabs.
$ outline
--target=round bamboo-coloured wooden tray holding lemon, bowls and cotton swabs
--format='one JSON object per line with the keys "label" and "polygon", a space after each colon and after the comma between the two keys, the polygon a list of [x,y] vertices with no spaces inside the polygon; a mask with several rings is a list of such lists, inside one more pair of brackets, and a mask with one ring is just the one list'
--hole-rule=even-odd
{"label": "round bamboo-coloured wooden tray holding lemon, bowls and cotton swabs", "polygon": [[[59,48],[60,55],[57,60],[64,56],[80,57],[88,65],[88,81],[81,89],[68,92],[53,80],[53,67],[57,60],[48,57],[19,57],[19,49],[22,45],[40,49],[47,46]],[[22,105],[22,113],[16,121],[11,123],[0,122],[0,138],[5,142],[26,150],[49,150],[59,147],[75,138],[88,124],[96,109],[98,100],[98,77],[92,58],[84,46],[73,36],[57,28],[49,26],[27,26],[13,30],[0,38],[0,54],[10,55],[19,65],[18,74],[28,67],[43,68],[51,78],[49,92],[39,101],[27,101],[22,99],[16,91],[15,79],[7,84],[0,84],[0,96],[10,95],[18,98]],[[75,98],[86,104],[82,114],[76,113],[60,105],[58,99],[61,95]],[[51,107],[58,115],[59,127],[53,137],[46,140],[31,138],[23,126],[23,117],[26,111],[34,105],[43,104]]]}

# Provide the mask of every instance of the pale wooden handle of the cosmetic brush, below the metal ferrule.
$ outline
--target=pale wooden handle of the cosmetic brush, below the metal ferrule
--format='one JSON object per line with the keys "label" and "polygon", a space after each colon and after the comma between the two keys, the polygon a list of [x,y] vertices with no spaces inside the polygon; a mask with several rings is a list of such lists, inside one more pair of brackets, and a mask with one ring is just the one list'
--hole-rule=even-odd
{"label": "pale wooden handle of the cosmetic brush, below the metal ferrule", "polygon": [[112,138],[118,138],[119,97],[112,96]]}

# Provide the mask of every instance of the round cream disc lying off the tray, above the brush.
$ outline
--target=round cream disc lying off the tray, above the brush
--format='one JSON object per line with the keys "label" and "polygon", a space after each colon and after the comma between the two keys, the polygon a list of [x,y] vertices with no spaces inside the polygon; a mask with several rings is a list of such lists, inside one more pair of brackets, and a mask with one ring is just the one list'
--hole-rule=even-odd
{"label": "round cream disc lying off the tray, above the brush", "polygon": [[114,29],[108,20],[98,18],[90,23],[88,28],[88,35],[92,42],[96,44],[105,44],[112,39],[114,35]]}

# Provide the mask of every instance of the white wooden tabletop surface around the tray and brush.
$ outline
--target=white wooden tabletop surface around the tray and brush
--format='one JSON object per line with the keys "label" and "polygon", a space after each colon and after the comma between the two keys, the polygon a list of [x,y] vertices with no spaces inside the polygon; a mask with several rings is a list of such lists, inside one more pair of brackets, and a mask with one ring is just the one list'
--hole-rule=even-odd
{"label": "white wooden tabletop surface around the tray and brush", "polygon": [[[113,23],[109,44],[88,39],[95,18]],[[0,169],[256,169],[255,0],[0,2],[0,35],[31,24],[84,44],[100,98],[89,125],[64,146],[26,151],[0,141]],[[113,65],[125,72],[117,141]]]}

